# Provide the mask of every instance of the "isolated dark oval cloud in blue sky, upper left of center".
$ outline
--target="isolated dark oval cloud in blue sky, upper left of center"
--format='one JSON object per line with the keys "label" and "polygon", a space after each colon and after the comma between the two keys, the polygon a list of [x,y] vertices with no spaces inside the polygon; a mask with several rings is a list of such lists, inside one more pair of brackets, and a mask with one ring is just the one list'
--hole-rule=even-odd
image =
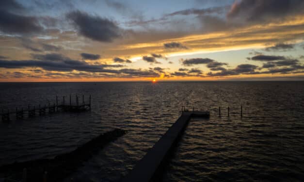
{"label": "isolated dark oval cloud in blue sky, upper left of center", "polygon": [[74,11],[67,14],[80,34],[100,42],[112,42],[120,36],[119,27],[112,21],[84,12]]}

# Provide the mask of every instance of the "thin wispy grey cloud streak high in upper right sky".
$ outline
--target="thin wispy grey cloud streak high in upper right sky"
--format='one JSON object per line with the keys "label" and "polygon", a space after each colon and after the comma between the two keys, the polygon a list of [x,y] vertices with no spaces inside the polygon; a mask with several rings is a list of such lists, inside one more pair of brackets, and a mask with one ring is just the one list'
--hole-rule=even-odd
{"label": "thin wispy grey cloud streak high in upper right sky", "polygon": [[227,7],[212,7],[212,8],[205,8],[205,9],[186,9],[181,11],[176,11],[170,14],[167,14],[166,16],[175,16],[175,15],[206,15],[206,14],[222,14],[225,10],[227,10]]}

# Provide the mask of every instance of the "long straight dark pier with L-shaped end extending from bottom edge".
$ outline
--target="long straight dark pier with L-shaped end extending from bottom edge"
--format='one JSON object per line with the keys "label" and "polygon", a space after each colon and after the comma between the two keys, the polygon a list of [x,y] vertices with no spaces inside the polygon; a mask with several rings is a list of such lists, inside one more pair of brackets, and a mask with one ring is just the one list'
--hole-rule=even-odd
{"label": "long straight dark pier with L-shaped end extending from bottom edge", "polygon": [[209,117],[208,111],[182,111],[178,120],[168,129],[158,142],[133,167],[122,182],[150,182],[157,175],[163,161],[182,135],[191,117]]}

